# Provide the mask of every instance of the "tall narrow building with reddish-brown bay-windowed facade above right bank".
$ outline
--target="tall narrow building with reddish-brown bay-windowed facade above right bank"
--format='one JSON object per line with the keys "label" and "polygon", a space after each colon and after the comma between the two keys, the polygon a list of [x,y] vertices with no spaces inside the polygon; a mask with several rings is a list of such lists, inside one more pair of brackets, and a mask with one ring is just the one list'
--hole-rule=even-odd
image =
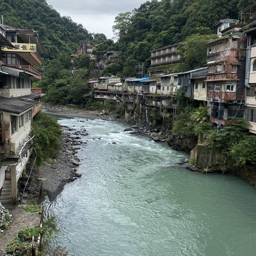
{"label": "tall narrow building with reddish-brown bay-windowed facade above right bank", "polygon": [[212,124],[218,128],[225,125],[229,117],[239,117],[243,113],[247,39],[245,33],[236,29],[230,34],[222,30],[223,36],[206,44],[207,100],[212,107]]}

